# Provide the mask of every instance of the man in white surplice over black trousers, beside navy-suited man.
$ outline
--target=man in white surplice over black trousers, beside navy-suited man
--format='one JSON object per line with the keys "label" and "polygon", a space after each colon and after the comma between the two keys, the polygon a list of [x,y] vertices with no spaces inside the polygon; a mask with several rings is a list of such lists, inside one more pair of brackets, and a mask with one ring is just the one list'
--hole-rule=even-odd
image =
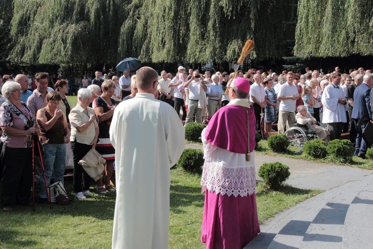
{"label": "man in white surplice over black trousers, beside navy-suited man", "polygon": [[324,88],[321,102],[324,106],[322,122],[330,132],[330,140],[340,139],[342,125],[347,122],[346,98],[342,88],[339,87],[341,74],[334,72],[330,75],[332,83]]}

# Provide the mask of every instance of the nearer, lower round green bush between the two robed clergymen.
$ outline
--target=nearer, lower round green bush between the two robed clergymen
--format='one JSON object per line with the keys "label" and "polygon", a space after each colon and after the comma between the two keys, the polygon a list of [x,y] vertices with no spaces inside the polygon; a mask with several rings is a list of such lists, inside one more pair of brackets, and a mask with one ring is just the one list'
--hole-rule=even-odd
{"label": "nearer, lower round green bush between the two robed clergymen", "polygon": [[203,162],[202,150],[187,148],[178,161],[178,167],[182,166],[188,172],[200,174],[202,173]]}

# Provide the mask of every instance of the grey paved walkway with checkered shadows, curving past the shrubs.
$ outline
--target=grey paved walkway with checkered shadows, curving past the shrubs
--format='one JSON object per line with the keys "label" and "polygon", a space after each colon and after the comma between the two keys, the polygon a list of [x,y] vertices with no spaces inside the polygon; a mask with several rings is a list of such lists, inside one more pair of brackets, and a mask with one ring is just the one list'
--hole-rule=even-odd
{"label": "grey paved walkway with checkered shadows, curving past the shrubs", "polygon": [[287,184],[326,191],[262,224],[245,249],[373,248],[373,171],[256,154],[257,179],[263,163],[276,161],[290,168]]}

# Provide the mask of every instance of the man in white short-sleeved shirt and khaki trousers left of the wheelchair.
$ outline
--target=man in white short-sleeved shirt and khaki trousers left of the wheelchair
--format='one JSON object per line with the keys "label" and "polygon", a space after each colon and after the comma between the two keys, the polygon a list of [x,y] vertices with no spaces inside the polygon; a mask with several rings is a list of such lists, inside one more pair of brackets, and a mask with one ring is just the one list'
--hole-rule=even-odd
{"label": "man in white short-sleeved shirt and khaki trousers left of the wheelchair", "polygon": [[299,99],[298,89],[293,84],[294,75],[286,75],[286,83],[280,86],[277,100],[280,102],[279,107],[279,134],[283,134],[286,129],[294,126],[295,123],[295,106]]}

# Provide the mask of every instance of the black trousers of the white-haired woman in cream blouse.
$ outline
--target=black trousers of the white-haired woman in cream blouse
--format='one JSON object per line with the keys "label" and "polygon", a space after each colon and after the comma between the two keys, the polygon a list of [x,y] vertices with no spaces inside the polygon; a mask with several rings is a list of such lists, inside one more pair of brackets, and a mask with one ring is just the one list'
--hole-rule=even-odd
{"label": "black trousers of the white-haired woman in cream blouse", "polygon": [[74,192],[79,193],[82,192],[82,183],[84,191],[90,189],[91,177],[78,162],[90,151],[92,145],[72,141],[71,147],[74,153]]}

